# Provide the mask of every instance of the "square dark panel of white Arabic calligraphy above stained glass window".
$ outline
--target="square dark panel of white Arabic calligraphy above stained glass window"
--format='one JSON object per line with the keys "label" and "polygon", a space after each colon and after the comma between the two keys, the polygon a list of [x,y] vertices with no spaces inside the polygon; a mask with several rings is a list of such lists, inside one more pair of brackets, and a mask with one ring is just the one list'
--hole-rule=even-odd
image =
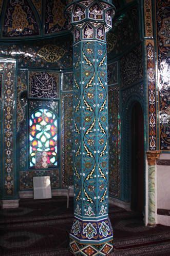
{"label": "square dark panel of white Arabic calligraphy above stained glass window", "polygon": [[59,98],[59,73],[29,72],[29,97]]}

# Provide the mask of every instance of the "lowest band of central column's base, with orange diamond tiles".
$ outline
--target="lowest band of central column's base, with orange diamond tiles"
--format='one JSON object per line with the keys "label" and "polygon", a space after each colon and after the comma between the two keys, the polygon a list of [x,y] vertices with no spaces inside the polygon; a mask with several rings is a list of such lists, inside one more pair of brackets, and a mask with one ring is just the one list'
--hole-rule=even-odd
{"label": "lowest band of central column's base, with orange diamond tiles", "polygon": [[107,255],[113,249],[113,240],[102,244],[81,244],[70,237],[70,252],[72,255],[97,256]]}

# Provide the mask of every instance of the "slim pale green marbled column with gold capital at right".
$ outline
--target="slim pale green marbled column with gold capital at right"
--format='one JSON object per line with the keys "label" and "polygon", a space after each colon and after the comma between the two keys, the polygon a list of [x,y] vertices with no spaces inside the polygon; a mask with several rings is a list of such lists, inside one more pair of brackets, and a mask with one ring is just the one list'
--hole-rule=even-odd
{"label": "slim pale green marbled column with gold capital at right", "polygon": [[156,227],[156,159],[160,151],[147,151],[148,162],[148,227]]}

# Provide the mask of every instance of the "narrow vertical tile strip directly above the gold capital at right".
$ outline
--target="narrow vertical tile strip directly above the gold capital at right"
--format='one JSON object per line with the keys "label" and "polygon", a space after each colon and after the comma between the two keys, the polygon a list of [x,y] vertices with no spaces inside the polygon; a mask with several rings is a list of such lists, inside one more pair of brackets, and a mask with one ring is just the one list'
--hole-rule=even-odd
{"label": "narrow vertical tile strip directly above the gold capital at right", "polygon": [[146,40],[149,150],[157,149],[156,74],[154,40]]}

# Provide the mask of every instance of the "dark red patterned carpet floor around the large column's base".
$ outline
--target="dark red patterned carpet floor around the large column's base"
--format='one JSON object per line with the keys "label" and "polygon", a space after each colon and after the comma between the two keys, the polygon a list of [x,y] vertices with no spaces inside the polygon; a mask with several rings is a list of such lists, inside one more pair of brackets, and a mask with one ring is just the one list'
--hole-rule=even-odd
{"label": "dark red patterned carpet floor around the large column's base", "polygon": [[[170,227],[144,227],[142,217],[110,206],[114,228],[112,255],[170,255]],[[23,199],[18,209],[0,210],[1,256],[67,256],[73,201]]]}

